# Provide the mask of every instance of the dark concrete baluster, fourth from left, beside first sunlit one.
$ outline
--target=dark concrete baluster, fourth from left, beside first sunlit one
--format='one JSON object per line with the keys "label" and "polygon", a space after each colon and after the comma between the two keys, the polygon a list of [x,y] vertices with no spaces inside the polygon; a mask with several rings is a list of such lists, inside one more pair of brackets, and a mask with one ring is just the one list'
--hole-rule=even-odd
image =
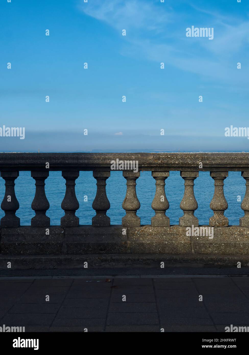
{"label": "dark concrete baluster, fourth from left, beside first sunlit one", "polygon": [[110,217],[106,215],[110,208],[105,186],[106,180],[110,176],[110,171],[93,171],[93,177],[97,180],[96,197],[92,203],[92,208],[96,211],[96,216],[92,218],[92,225],[94,227],[108,227],[110,225]]}

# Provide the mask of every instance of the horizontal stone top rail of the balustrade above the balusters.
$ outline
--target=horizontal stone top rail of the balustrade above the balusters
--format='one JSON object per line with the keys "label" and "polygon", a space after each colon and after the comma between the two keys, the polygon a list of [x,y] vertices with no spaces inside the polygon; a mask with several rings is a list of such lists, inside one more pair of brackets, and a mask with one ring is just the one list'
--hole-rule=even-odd
{"label": "horizontal stone top rail of the balustrade above the balusters", "polygon": [[249,171],[249,153],[0,153],[0,170],[108,171],[116,159],[149,171]]}

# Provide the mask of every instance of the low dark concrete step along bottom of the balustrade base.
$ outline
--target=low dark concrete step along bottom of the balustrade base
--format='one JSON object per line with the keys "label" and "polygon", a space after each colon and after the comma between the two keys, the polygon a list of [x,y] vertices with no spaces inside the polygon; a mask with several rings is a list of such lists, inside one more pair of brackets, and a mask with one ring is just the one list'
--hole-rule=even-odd
{"label": "low dark concrete step along bottom of the balustrade base", "polygon": [[[248,255],[203,255],[203,254],[88,254],[88,255],[0,255],[0,270],[9,271],[7,263],[11,262],[11,274],[15,270],[28,269],[58,269],[65,272],[66,269],[84,269],[85,262],[88,263],[88,270],[98,270],[112,268],[127,268],[133,270],[136,268],[148,269],[155,268],[157,271],[161,268],[161,262],[164,267],[231,267],[237,269],[237,263],[241,262],[242,268],[249,266]],[[247,271],[248,272],[248,271]],[[6,274],[6,273],[5,273]]]}

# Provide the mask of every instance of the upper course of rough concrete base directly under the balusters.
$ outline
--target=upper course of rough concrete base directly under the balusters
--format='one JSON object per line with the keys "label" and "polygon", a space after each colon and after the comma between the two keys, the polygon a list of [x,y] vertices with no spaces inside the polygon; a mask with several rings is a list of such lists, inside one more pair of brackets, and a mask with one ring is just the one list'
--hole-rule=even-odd
{"label": "upper course of rough concrete base directly under the balusters", "polygon": [[[207,228],[209,226],[203,226]],[[240,226],[214,227],[213,238],[186,236],[186,227],[125,228],[121,225],[98,227],[85,225],[72,228],[21,226],[2,228],[0,254],[206,254],[249,255],[249,229]]]}

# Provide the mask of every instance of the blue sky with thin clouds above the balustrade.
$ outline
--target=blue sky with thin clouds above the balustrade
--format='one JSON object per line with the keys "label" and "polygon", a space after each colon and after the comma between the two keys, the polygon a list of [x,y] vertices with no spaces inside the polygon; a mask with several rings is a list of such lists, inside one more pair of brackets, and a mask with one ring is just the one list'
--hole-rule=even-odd
{"label": "blue sky with thin clouds above the balustrade", "polygon": [[0,126],[25,127],[0,151],[248,151],[224,137],[249,127],[248,1],[1,0],[0,13]]}

